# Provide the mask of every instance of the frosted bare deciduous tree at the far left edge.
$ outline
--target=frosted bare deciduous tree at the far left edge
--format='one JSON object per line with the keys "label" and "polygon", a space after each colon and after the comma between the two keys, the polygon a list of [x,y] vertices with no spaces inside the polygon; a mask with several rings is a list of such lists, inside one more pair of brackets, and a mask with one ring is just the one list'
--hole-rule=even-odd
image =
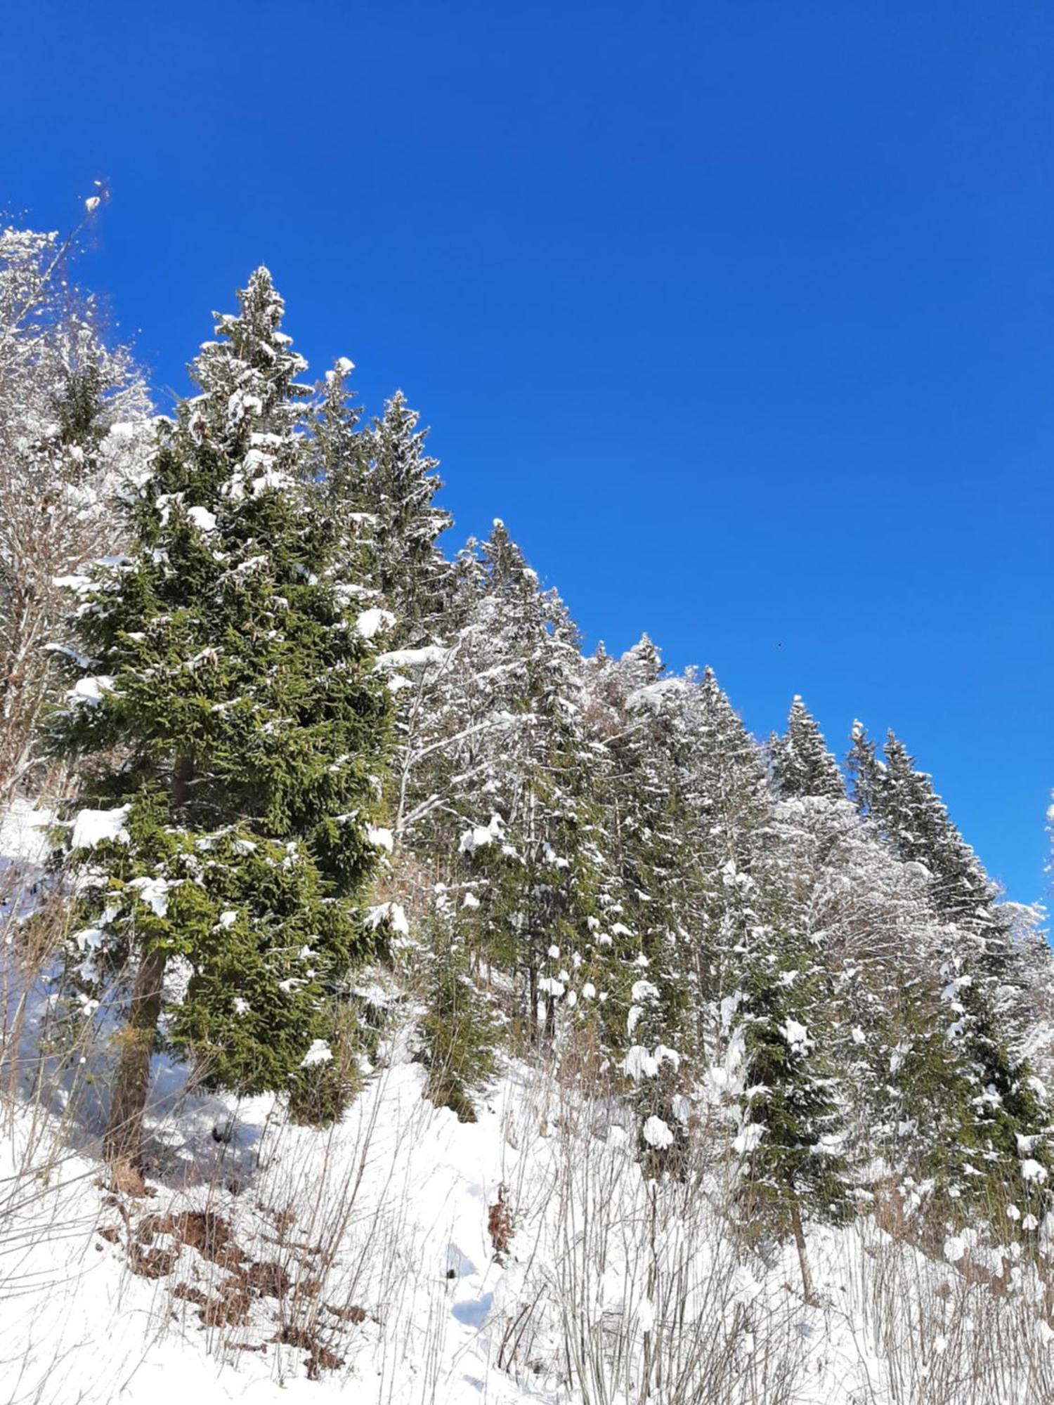
{"label": "frosted bare deciduous tree at the far left edge", "polygon": [[115,548],[108,504],[149,437],[142,372],[70,280],[98,200],[65,239],[0,228],[0,801],[39,764],[66,608],[55,579]]}

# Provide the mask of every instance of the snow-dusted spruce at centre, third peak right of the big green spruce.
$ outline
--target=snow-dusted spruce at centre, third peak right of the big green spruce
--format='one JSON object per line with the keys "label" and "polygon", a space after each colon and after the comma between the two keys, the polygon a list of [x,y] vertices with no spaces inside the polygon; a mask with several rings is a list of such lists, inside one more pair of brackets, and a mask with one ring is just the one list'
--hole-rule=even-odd
{"label": "snow-dusted spruce at centre, third peak right of the big green spruce", "polygon": [[544,996],[551,1035],[558,1002],[576,998],[571,974],[597,889],[582,655],[565,606],[538,589],[500,521],[469,545],[457,579],[457,740],[431,788],[447,797],[445,833],[460,816],[457,873],[478,884],[474,944],[516,974],[531,1037]]}

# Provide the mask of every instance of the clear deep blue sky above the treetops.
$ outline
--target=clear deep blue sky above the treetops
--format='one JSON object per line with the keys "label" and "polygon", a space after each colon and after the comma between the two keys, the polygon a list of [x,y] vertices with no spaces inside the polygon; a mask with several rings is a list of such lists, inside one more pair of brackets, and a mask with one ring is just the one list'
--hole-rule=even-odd
{"label": "clear deep blue sky above the treetops", "polygon": [[[1054,783],[1054,11],[7,7],[0,205],[114,198],[159,386],[266,261],[589,642],[892,725],[1013,896]],[[451,541],[451,548],[457,542]]]}

